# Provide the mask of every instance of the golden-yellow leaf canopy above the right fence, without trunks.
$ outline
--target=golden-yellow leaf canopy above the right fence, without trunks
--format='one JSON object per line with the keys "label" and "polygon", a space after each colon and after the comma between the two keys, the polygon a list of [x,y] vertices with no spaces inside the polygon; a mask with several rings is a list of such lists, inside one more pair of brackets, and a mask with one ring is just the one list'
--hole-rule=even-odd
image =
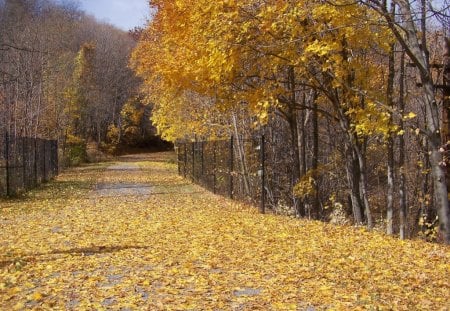
{"label": "golden-yellow leaf canopy above the right fence, without trunks", "polygon": [[[362,51],[385,45],[389,34],[376,26],[379,17],[366,7],[338,3],[341,6],[310,1],[161,1],[146,30],[154,40],[144,36],[132,59],[154,97],[153,121],[160,133],[170,140],[184,137],[188,130],[188,136],[213,136],[219,131],[211,124],[223,117],[221,112],[243,104],[257,118],[256,126],[267,123],[270,110],[280,108],[274,99],[289,92],[279,82],[285,80],[288,66],[295,66],[297,80],[317,84],[318,74],[311,76],[311,68],[317,68],[332,77],[331,88],[367,90],[369,98],[379,99],[382,73],[377,65],[368,66]],[[353,85],[348,85],[349,76]],[[192,95],[215,101],[219,109],[209,113],[211,106],[197,105],[192,113]],[[369,124],[375,119],[378,132],[385,134],[391,129],[384,118],[377,114],[352,121],[359,134],[371,135],[377,132]]]}

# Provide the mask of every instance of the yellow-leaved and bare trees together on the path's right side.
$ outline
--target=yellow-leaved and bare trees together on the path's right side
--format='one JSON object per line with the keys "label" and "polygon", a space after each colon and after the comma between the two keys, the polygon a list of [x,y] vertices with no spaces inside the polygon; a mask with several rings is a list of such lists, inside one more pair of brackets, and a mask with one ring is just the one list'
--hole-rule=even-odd
{"label": "yellow-leaved and bare trees together on the path's right side", "polygon": [[443,55],[430,38],[448,34],[426,27],[422,2],[157,0],[133,66],[165,137],[264,133],[274,149],[289,146],[299,215],[327,219],[331,202],[405,238],[421,230],[417,215],[432,221],[428,202],[448,242],[442,70],[430,65]]}

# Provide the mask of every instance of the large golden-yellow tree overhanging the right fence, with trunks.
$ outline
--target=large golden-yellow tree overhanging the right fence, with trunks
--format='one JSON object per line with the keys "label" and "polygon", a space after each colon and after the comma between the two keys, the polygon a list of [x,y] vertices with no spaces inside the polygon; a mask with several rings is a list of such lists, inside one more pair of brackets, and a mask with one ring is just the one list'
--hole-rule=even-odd
{"label": "large golden-yellow tree overhanging the right fence, with trunks", "polygon": [[[364,210],[371,227],[364,137],[392,130],[379,64],[368,62],[370,51],[389,47],[390,32],[378,26],[379,17],[346,0],[339,7],[277,0],[160,0],[155,6],[133,65],[155,102],[160,129],[178,132],[181,123],[195,132],[195,120],[211,118],[205,111],[220,114],[235,105],[261,122],[275,112],[291,129],[298,180],[297,114],[314,109],[336,120],[345,135],[355,221],[363,221]],[[317,93],[314,105],[302,100],[307,90]],[[192,107],[186,95],[193,93],[209,104]]]}

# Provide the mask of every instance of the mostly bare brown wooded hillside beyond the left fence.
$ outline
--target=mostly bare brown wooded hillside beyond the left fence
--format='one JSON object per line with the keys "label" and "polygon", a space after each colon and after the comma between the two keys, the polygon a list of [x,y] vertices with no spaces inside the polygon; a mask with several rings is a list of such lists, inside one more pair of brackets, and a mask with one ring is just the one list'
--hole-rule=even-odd
{"label": "mostly bare brown wooded hillside beyond the left fence", "polygon": [[68,158],[72,147],[82,158],[138,95],[135,43],[70,1],[0,1],[0,131],[57,138]]}

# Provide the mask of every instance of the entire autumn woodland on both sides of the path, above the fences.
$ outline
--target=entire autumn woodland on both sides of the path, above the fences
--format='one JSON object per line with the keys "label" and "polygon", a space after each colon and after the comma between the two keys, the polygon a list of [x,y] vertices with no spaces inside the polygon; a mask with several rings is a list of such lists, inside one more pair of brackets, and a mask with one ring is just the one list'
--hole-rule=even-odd
{"label": "entire autumn woodland on both sides of the path, above the fences", "polygon": [[447,0],[150,6],[124,32],[0,1],[1,130],[57,139],[64,165],[155,140],[150,115],[174,143],[264,135],[294,176],[274,209],[450,241]]}

